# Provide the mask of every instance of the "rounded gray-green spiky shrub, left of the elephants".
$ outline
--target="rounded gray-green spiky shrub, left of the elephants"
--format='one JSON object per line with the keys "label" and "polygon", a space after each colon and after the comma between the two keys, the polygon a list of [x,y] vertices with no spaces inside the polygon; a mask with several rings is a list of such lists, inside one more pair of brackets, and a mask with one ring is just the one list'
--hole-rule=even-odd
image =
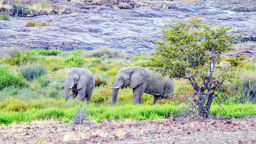
{"label": "rounded gray-green spiky shrub, left of the elephants", "polygon": [[45,62],[27,62],[23,63],[23,65],[20,67],[20,73],[27,80],[33,80],[39,76],[44,76],[47,73],[47,67]]}

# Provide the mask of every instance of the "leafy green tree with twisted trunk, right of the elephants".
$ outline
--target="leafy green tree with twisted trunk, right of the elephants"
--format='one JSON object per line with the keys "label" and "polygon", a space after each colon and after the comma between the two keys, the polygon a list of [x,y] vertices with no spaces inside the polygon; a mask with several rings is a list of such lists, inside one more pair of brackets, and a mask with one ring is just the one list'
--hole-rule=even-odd
{"label": "leafy green tree with twisted trunk, right of the elephants", "polygon": [[152,54],[148,66],[162,76],[184,78],[192,85],[194,91],[189,93],[190,102],[183,101],[187,107],[182,116],[211,116],[213,98],[236,83],[233,65],[220,64],[221,55],[233,50],[234,36],[227,34],[231,27],[214,28],[202,24],[199,17],[190,17],[187,23],[167,23],[169,28],[162,30],[162,39],[155,41],[161,49]]}

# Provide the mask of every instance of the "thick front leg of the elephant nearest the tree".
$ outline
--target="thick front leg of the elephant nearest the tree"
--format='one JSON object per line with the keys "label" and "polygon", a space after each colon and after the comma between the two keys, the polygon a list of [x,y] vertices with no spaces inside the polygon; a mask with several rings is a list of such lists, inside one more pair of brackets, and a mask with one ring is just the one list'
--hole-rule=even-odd
{"label": "thick front leg of the elephant nearest the tree", "polygon": [[132,89],[133,91],[133,104],[141,104],[141,97],[143,93],[145,92],[147,85],[144,83],[139,84],[135,88]]}

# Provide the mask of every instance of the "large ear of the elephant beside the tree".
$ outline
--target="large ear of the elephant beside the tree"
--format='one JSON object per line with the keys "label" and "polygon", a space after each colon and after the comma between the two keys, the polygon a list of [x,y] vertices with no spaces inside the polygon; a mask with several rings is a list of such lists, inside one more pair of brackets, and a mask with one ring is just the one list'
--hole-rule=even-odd
{"label": "large ear of the elephant beside the tree", "polygon": [[143,81],[145,81],[146,78],[144,72],[140,69],[140,67],[132,67],[131,70],[131,82],[129,88],[133,89],[141,84]]}

